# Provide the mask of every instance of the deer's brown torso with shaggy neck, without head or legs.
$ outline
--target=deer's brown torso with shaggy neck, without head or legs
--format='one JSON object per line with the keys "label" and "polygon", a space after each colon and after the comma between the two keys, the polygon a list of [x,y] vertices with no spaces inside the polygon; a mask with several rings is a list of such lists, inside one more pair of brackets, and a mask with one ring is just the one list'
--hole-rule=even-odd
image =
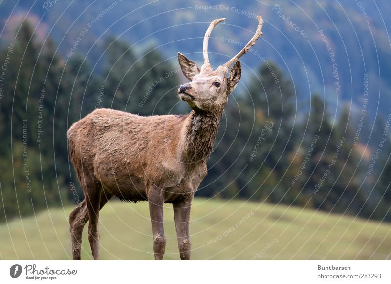
{"label": "deer's brown torso with shaggy neck, without head or legs", "polygon": [[[197,125],[206,120],[209,129]],[[148,200],[149,184],[158,184],[164,202],[175,203],[191,197],[205,177],[218,121],[195,112],[145,117],[97,109],[68,130],[71,161],[83,164],[108,196]]]}

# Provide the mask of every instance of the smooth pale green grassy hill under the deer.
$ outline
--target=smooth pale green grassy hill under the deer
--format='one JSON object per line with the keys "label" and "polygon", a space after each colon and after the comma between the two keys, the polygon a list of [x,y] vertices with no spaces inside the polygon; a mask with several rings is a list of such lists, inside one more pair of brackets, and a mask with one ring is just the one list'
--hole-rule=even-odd
{"label": "smooth pale green grassy hill under the deer", "polygon": [[[1,224],[0,258],[69,259],[72,209],[54,208]],[[179,259],[170,204],[164,214],[164,259]],[[196,199],[191,217],[192,259],[391,259],[388,223],[217,199]],[[148,203],[112,201],[100,220],[102,259],[153,259]],[[86,226],[82,259],[90,258]]]}

